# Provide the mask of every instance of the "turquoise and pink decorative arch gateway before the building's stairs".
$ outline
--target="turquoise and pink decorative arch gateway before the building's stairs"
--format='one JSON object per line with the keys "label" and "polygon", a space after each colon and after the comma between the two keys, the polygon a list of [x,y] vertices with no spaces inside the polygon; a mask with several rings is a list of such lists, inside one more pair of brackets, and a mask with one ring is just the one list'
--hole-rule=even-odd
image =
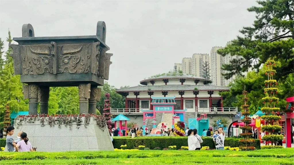
{"label": "turquoise and pink decorative arch gateway before the building's stairs", "polygon": [[145,121],[146,119],[153,119],[153,128],[156,128],[156,113],[172,113],[172,126],[174,128],[175,119],[180,119],[183,117],[185,119],[185,110],[174,110],[174,105],[176,96],[173,97],[153,97],[151,96],[151,108],[152,110],[141,110],[143,112],[143,134],[145,134]]}

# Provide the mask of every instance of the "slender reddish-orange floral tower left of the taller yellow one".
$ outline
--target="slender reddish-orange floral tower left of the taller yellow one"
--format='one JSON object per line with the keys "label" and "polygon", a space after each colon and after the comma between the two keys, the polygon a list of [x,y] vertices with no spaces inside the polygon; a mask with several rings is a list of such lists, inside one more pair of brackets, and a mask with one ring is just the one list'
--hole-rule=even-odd
{"label": "slender reddish-orange floral tower left of the taller yellow one", "polygon": [[240,136],[244,137],[244,139],[239,140],[239,142],[241,144],[243,144],[243,146],[240,146],[240,150],[255,150],[255,147],[250,146],[250,144],[252,144],[254,142],[254,140],[250,139],[250,137],[252,136],[252,133],[249,133],[250,130],[252,130],[252,127],[249,126],[249,124],[251,123],[251,118],[249,117],[250,112],[248,110],[249,105],[247,105],[247,101],[248,98],[246,97],[247,91],[245,90],[244,87],[244,91],[243,91],[243,95],[244,95],[244,105],[242,105],[242,112],[241,114],[244,115],[244,119],[242,119],[241,121],[244,122],[244,126],[240,127],[243,130],[243,133],[240,134]]}

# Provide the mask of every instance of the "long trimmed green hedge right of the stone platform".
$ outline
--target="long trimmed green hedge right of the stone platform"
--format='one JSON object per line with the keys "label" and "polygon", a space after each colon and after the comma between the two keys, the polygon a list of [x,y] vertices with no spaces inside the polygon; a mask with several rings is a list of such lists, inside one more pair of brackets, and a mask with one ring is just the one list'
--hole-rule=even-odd
{"label": "long trimmed green hedge right of the stone platform", "polygon": [[[215,149],[215,143],[212,138],[203,137],[203,143],[201,147],[208,146],[210,149]],[[188,146],[188,137],[114,137],[113,138],[113,147],[120,149],[121,145],[127,145],[127,149],[133,149],[139,145],[143,145],[150,149],[155,147],[168,148],[168,146],[177,146],[177,149],[180,149],[181,146]],[[239,147],[239,139],[236,138],[225,138],[225,146],[230,147]],[[256,149],[260,149],[259,139],[255,139],[255,142],[252,144]]]}

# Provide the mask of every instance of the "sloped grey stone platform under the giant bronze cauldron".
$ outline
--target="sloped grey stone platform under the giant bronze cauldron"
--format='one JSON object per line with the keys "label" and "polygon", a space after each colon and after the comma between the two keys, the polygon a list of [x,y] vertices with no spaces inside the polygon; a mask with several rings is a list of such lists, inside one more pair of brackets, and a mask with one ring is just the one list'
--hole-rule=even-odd
{"label": "sloped grey stone platform under the giant bronze cauldron", "polygon": [[35,123],[22,122],[19,128],[17,128],[17,125],[14,125],[13,137],[15,139],[19,131],[26,132],[29,142],[31,142],[33,147],[37,148],[37,151],[114,150],[107,127],[102,131],[91,117],[90,124],[85,128],[84,118],[82,117],[83,122],[78,126],[79,128],[77,128],[74,122],[72,129],[69,126],[65,127],[65,125],[61,125],[61,128],[58,128],[58,124],[50,127],[48,122],[44,122],[44,127],[41,127],[40,121]]}

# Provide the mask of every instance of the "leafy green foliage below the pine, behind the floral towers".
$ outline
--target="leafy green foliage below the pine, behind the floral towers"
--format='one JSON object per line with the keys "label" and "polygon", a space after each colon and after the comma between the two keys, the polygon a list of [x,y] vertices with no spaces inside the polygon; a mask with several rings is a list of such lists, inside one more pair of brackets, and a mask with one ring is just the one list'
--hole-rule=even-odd
{"label": "leafy green foliage below the pine, behind the floral towers", "polygon": [[[281,67],[281,63],[276,63],[277,68]],[[248,98],[247,104],[249,106],[249,112],[254,114],[258,111],[259,107],[263,107],[262,98],[264,97],[264,81],[267,80],[267,75],[265,72],[267,67],[264,65],[259,72],[251,71],[248,72],[245,77],[237,76],[234,80],[234,83],[230,83],[230,91],[220,92],[220,95],[223,96],[223,106],[224,107],[238,107],[241,108],[243,105],[243,95],[242,91],[244,85],[246,86],[246,91],[248,92],[246,97]],[[294,74],[289,74],[285,79],[280,79],[278,81],[278,94],[280,98],[278,107],[285,107],[285,98],[291,97],[294,95]]]}

